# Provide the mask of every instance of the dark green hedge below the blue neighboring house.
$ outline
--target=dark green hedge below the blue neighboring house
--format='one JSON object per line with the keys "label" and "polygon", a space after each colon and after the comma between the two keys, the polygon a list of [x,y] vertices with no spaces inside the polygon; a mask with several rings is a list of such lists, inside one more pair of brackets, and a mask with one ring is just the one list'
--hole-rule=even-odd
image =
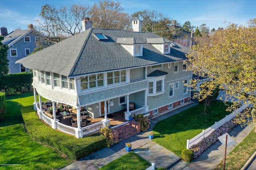
{"label": "dark green hedge below the blue neighboring house", "polygon": [[30,92],[32,77],[33,74],[28,72],[2,76],[0,90],[5,90],[6,95]]}

